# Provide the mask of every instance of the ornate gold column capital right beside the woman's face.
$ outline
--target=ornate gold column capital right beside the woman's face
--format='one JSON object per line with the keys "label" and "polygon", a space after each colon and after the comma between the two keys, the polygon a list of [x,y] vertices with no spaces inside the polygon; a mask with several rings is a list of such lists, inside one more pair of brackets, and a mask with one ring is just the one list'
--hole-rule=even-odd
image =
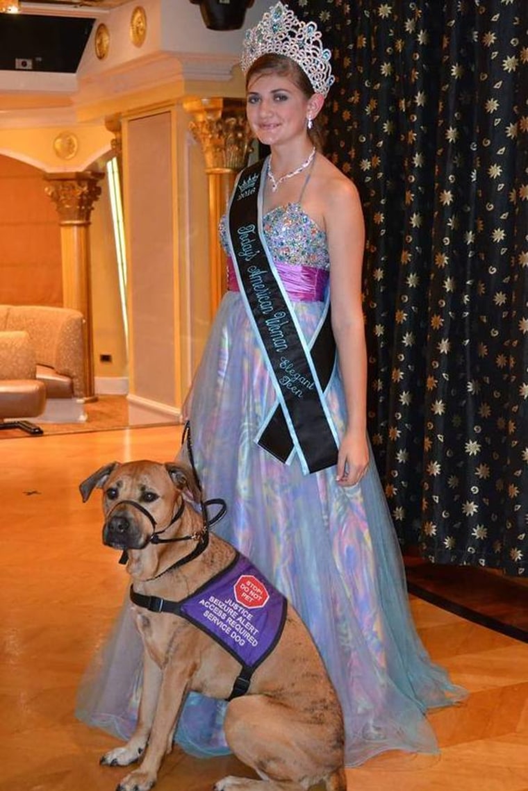
{"label": "ornate gold column capital right beside the woman's face", "polygon": [[183,107],[192,115],[189,129],[202,146],[208,174],[237,173],[245,167],[253,134],[245,117],[244,99],[188,97]]}

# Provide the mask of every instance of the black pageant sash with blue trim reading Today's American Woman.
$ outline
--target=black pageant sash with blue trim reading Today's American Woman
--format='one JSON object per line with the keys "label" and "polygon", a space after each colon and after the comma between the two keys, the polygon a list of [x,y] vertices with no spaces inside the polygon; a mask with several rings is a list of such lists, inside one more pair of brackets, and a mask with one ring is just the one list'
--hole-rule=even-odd
{"label": "black pageant sash with blue trim reading Today's American Woman", "polygon": [[234,271],[279,402],[257,441],[286,464],[298,454],[306,474],[337,461],[337,435],[324,389],[335,365],[329,297],[310,346],[276,271],[262,229],[263,161],[237,180],[229,208]]}

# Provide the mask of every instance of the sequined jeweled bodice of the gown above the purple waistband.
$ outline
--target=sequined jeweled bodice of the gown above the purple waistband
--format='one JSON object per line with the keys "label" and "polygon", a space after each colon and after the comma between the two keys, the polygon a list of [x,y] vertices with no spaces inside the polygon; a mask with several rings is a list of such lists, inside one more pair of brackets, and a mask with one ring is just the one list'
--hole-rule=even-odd
{"label": "sequined jeweled bodice of the gown above the purple waistband", "polygon": [[[264,215],[262,224],[276,262],[329,270],[326,233],[302,210],[300,203],[275,206]],[[220,222],[220,236],[227,252],[225,215]]]}

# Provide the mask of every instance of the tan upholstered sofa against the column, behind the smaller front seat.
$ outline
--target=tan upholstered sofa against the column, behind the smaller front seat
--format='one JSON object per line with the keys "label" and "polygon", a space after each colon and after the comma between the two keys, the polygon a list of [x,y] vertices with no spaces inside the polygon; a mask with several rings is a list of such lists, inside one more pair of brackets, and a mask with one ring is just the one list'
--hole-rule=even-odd
{"label": "tan upholstered sofa against the column, behind the smaller front seat", "polygon": [[[84,317],[72,308],[41,305],[0,305],[0,341],[3,333],[24,332],[36,361],[36,380],[44,384],[44,422],[86,419]],[[2,371],[0,371],[2,378]]]}

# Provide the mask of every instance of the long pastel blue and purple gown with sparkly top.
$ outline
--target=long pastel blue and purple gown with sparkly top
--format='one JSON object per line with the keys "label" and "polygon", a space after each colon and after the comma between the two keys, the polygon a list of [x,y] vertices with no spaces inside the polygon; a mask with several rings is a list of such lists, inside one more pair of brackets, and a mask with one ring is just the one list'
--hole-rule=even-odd
{"label": "long pastel blue and purple gown with sparkly top", "polygon": [[[328,288],[325,233],[301,202],[266,214],[263,229],[298,322],[311,337]],[[283,464],[256,444],[275,390],[231,268],[229,288],[185,405],[204,495],[227,504],[213,529],[260,568],[308,626],[343,707],[346,765],[387,750],[434,753],[427,709],[458,702],[465,691],[431,662],[416,634],[372,454],[361,482],[343,488],[335,467],[305,475],[297,457]],[[346,407],[337,366],[326,398],[341,435]],[[82,681],[78,717],[128,738],[141,657],[125,602]],[[177,743],[197,756],[229,752],[222,731],[226,705],[189,694]]]}

